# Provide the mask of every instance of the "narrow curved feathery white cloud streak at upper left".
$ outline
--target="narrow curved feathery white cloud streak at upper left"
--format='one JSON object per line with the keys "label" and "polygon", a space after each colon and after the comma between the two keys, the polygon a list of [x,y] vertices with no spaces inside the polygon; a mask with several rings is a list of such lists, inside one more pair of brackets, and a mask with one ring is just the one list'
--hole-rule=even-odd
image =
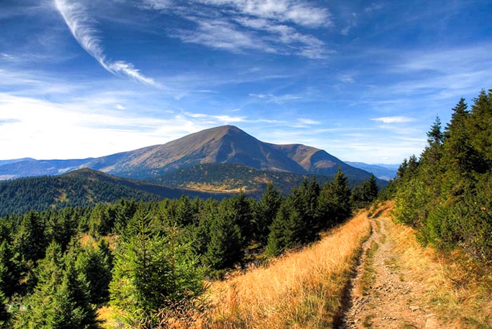
{"label": "narrow curved feathery white cloud streak at upper left", "polygon": [[82,5],[69,4],[66,0],[55,0],[56,8],[62,15],[70,32],[84,50],[95,58],[108,72],[117,76],[127,76],[134,81],[160,87],[154,79],[141,74],[130,62],[123,60],[108,60],[101,46],[101,40],[93,27],[93,20]]}

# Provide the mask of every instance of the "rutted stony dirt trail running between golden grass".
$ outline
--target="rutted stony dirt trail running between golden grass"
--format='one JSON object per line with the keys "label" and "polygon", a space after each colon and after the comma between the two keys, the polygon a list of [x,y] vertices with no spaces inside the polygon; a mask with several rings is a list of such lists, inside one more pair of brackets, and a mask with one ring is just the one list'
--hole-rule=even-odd
{"label": "rutted stony dirt trail running between golden grass", "polygon": [[372,234],[363,244],[356,277],[349,285],[348,309],[339,328],[442,328],[437,316],[421,304],[425,287],[407,281],[399,267],[388,212],[380,208],[369,217]]}

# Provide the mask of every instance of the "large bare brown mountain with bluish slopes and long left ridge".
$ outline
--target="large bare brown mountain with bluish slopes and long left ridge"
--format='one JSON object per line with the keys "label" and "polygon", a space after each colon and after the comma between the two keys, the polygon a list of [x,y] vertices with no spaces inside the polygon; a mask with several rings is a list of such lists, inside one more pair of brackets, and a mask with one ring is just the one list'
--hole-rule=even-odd
{"label": "large bare brown mountain with bluish slopes and long left ridge", "polygon": [[306,145],[261,142],[235,126],[220,126],[193,133],[164,145],[77,160],[21,161],[0,166],[0,176],[56,175],[80,168],[130,178],[151,178],[202,163],[235,163],[261,170],[297,174],[334,175],[342,168],[352,179],[370,173],[354,168],[322,149]]}

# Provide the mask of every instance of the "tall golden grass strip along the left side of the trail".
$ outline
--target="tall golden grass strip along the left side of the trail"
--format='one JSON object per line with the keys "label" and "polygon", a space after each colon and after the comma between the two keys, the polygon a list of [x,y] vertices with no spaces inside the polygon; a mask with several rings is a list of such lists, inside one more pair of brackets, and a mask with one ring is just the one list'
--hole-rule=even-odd
{"label": "tall golden grass strip along the left side of the trail", "polygon": [[330,328],[370,234],[360,213],[320,242],[268,267],[212,284],[202,328]]}

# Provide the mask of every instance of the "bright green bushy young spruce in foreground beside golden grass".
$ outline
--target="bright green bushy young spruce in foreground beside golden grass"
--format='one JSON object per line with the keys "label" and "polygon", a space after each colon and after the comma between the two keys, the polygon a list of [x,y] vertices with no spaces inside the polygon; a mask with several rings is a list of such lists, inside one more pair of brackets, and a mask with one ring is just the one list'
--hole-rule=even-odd
{"label": "bright green bushy young spruce in foreground beside golden grass", "polygon": [[127,312],[127,322],[152,328],[157,312],[200,292],[200,271],[176,243],[176,227],[164,236],[155,218],[137,210],[115,256],[111,302]]}

